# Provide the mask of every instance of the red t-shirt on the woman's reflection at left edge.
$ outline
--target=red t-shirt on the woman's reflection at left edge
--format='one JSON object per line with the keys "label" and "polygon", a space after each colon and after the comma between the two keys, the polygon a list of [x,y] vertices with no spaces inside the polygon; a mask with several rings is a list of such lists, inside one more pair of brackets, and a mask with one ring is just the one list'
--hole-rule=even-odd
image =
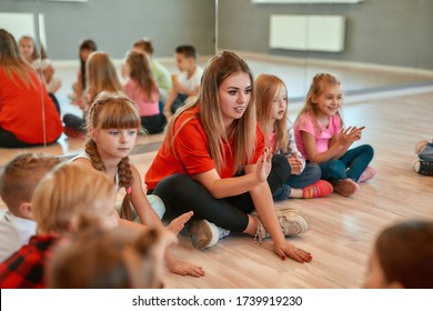
{"label": "red t-shirt on the woman's reflection at left edge", "polygon": [[59,112],[37,74],[31,72],[30,76],[36,88],[27,88],[13,73],[12,81],[0,68],[0,128],[23,142],[43,143],[44,112],[47,142],[54,142],[63,132]]}

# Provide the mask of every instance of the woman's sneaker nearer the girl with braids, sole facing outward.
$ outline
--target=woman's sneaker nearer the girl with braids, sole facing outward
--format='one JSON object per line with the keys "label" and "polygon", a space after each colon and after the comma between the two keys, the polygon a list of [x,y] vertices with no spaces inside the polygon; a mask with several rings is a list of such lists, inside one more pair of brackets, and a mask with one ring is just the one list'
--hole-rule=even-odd
{"label": "woman's sneaker nearer the girl with braids, sole facing outward", "polygon": [[213,247],[218,240],[230,234],[230,230],[216,227],[208,220],[191,220],[190,237],[193,247],[198,250],[203,250]]}

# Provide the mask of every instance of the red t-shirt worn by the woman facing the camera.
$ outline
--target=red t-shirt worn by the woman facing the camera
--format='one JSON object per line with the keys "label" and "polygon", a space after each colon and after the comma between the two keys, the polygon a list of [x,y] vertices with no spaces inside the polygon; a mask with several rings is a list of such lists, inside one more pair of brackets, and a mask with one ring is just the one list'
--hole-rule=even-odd
{"label": "red t-shirt worn by the woman facing the camera", "polygon": [[[194,108],[183,112],[177,120],[174,132],[184,120],[199,112],[199,108]],[[255,163],[264,151],[264,138],[259,124],[255,128],[255,154],[251,163]],[[157,157],[154,158],[144,182],[148,189],[154,189],[162,179],[173,173],[187,173],[191,177],[204,173],[215,168],[215,164],[209,153],[208,137],[201,124],[200,118],[194,118],[188,121],[174,138],[173,148],[165,149],[167,139],[162,142]],[[233,154],[230,150],[234,150],[234,139],[224,142],[225,167],[220,173],[221,178],[233,177]]]}

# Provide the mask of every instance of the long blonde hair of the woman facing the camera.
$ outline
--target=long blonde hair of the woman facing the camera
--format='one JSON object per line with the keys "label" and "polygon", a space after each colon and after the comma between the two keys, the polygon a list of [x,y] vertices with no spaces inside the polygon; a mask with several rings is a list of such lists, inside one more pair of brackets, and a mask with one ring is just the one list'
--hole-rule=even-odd
{"label": "long blonde hair of the woman facing the camera", "polygon": [[[223,170],[225,165],[223,143],[229,138],[225,134],[220,107],[219,87],[225,79],[241,72],[248,73],[251,83],[253,82],[253,77],[246,62],[234,52],[223,51],[208,61],[197,100],[180,109],[168,127],[168,148],[172,148],[172,142],[185,123],[193,118],[200,118],[208,137],[209,153],[215,163],[216,171],[221,172]],[[255,151],[255,100],[253,86],[251,87],[251,99],[243,117],[233,121],[233,133],[235,133],[234,150],[231,151],[234,153],[233,172],[236,172],[242,164],[250,162]],[[200,112],[192,114],[190,110],[195,107],[200,107]],[[190,113],[191,117],[174,132],[174,123],[181,113]]]}

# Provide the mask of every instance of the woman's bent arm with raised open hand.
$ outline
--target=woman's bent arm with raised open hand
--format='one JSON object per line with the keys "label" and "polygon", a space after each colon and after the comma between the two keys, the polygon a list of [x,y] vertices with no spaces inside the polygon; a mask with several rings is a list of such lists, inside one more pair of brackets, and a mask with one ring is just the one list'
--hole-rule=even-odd
{"label": "woman's bent arm with raised open hand", "polygon": [[266,149],[258,161],[260,170],[245,173],[244,175],[222,179],[216,170],[212,169],[204,173],[197,174],[195,179],[216,199],[238,195],[245,193],[266,181],[271,171],[271,158],[272,153]]}

